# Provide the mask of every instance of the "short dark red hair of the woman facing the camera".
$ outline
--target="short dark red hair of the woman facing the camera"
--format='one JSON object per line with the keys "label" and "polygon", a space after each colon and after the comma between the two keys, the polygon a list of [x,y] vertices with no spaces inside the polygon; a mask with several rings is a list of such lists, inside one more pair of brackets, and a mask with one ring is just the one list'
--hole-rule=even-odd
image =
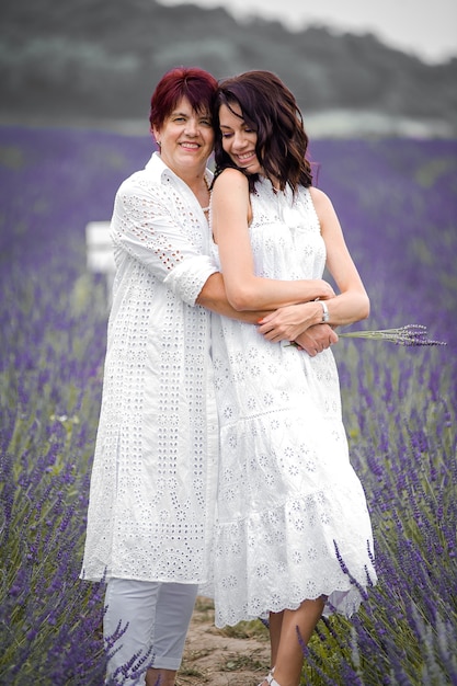
{"label": "short dark red hair of the woman facing the camera", "polygon": [[160,128],[182,98],[195,112],[213,111],[217,91],[215,77],[198,67],[174,67],[160,79],[151,96],[149,122]]}

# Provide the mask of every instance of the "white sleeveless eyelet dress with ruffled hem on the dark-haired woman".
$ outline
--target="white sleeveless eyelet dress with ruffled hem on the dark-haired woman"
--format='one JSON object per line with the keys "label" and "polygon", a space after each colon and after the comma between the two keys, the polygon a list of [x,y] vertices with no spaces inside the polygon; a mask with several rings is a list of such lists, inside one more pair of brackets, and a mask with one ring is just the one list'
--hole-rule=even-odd
{"label": "white sleeveless eyelet dress with ruffled hem on the dark-haired woman", "polygon": [[[256,274],[321,278],[325,247],[309,191],[293,198],[261,180],[251,202]],[[296,609],[322,594],[325,615],[351,616],[376,572],[333,354],[311,358],[219,316],[212,335],[220,422],[216,625]]]}

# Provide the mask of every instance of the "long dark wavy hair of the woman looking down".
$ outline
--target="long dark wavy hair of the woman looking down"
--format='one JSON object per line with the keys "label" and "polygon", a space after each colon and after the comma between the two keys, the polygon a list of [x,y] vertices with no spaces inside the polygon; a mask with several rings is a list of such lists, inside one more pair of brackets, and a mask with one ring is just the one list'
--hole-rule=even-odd
{"label": "long dark wavy hair of the woman looking down", "polygon": [[[213,110],[216,128],[215,163],[216,176],[222,169],[239,169],[222,148],[219,128],[219,110],[238,104],[242,118],[258,135],[255,152],[265,175],[276,179],[282,191],[287,184],[294,193],[298,185],[312,185],[311,164],[307,159],[308,136],[304,128],[301,112],[289,89],[271,71],[245,71],[219,82]],[[250,191],[253,191],[259,174],[249,174]]]}

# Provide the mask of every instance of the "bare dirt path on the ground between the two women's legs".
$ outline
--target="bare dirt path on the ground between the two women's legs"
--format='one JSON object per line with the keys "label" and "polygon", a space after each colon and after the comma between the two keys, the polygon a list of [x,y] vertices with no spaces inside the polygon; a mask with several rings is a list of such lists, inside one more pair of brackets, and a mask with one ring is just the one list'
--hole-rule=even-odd
{"label": "bare dirt path on the ground between the two women's legs", "polygon": [[198,597],[176,686],[256,686],[269,661],[269,633],[261,621],[216,629],[212,602]]}

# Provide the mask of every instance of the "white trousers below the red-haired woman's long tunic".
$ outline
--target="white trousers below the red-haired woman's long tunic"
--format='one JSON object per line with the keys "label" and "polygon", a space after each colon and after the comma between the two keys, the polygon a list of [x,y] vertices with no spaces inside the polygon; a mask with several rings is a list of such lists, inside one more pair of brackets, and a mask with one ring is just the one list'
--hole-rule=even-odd
{"label": "white trousers below the red-haired woman's long tunic", "polygon": [[103,619],[106,684],[142,686],[149,666],[179,670],[197,590],[197,584],[110,579]]}

